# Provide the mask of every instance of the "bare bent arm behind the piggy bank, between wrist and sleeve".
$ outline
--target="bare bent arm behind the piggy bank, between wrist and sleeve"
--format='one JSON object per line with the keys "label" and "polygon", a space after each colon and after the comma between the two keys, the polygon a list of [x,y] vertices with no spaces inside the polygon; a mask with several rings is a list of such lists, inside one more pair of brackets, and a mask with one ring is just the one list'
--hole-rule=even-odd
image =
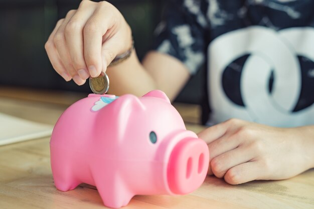
{"label": "bare bent arm behind the piggy bank, between wrist and sleeve", "polygon": [[143,95],[152,89],[164,91],[172,101],[190,77],[186,66],[178,59],[150,51],[142,63],[135,51],[123,62],[108,67],[109,93]]}

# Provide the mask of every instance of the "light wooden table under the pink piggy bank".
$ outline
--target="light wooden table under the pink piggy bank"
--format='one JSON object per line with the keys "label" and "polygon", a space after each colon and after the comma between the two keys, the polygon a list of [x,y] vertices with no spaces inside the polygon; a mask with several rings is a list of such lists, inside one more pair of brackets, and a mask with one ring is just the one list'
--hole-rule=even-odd
{"label": "light wooden table under the pink piggy bank", "polygon": [[[69,104],[84,96],[0,87],[0,111],[54,124]],[[186,118],[197,120],[193,114],[198,107],[177,106]],[[204,127],[187,123],[187,128],[198,132]],[[0,208],[105,208],[92,186],[80,185],[67,192],[56,189],[49,139],[0,146]],[[314,208],[314,169],[287,180],[241,185],[208,176],[191,194],[136,195],[124,208]]]}

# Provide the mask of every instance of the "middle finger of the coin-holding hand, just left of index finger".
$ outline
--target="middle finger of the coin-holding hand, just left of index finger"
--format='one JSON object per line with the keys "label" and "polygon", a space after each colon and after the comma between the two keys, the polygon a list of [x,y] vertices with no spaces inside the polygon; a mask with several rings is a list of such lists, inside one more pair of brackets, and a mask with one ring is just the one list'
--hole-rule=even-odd
{"label": "middle finger of the coin-holding hand, just left of index finger", "polygon": [[65,25],[64,32],[72,65],[82,79],[89,77],[84,60],[83,28],[94,12],[95,3],[82,1],[77,11]]}

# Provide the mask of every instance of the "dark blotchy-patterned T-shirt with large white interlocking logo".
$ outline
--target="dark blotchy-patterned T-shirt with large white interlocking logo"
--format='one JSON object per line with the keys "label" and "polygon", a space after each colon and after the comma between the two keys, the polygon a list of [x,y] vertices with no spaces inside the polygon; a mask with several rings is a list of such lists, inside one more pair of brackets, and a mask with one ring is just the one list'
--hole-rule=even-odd
{"label": "dark blotchy-patterned T-shirt with large white interlocking logo", "polygon": [[314,124],[314,0],[170,0],[155,50],[207,63],[208,124]]}

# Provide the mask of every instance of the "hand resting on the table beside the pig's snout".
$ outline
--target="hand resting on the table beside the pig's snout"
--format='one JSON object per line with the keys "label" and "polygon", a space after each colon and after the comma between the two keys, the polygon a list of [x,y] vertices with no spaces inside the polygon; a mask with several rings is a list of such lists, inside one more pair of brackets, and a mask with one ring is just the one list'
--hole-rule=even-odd
{"label": "hand resting on the table beside the pig's snout", "polygon": [[278,128],[230,119],[200,132],[214,174],[230,184],[285,179],[314,166],[314,127]]}

